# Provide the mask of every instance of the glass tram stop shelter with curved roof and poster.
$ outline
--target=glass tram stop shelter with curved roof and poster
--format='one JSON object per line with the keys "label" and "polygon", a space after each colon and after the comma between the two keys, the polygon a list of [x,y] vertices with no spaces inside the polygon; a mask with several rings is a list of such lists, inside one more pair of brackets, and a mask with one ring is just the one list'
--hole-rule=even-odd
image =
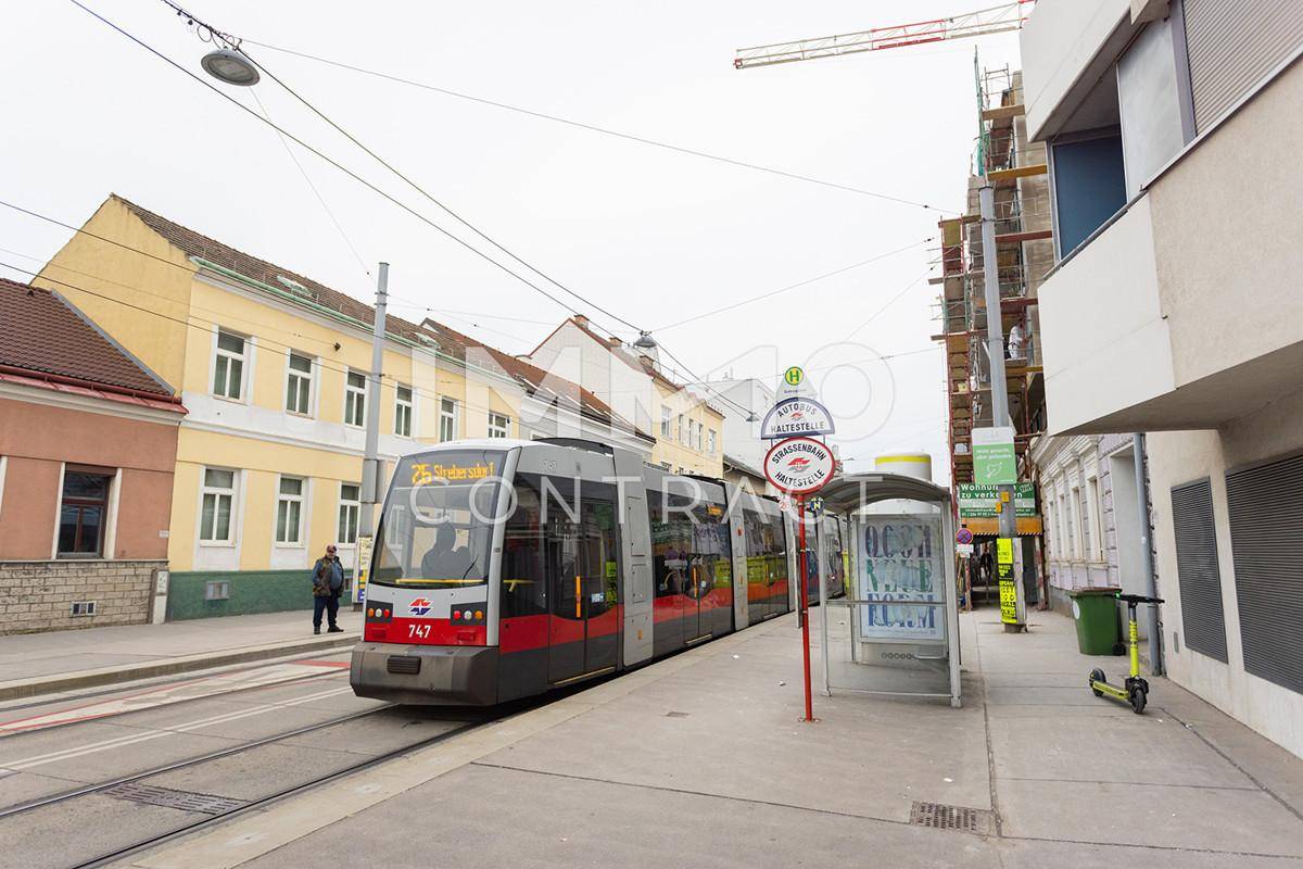
{"label": "glass tram stop shelter with curved roof and poster", "polygon": [[[846,517],[844,598],[820,582],[823,693],[962,702],[959,595],[950,491],[890,473],[838,477],[820,491]],[[816,538],[827,564],[825,535]]]}

